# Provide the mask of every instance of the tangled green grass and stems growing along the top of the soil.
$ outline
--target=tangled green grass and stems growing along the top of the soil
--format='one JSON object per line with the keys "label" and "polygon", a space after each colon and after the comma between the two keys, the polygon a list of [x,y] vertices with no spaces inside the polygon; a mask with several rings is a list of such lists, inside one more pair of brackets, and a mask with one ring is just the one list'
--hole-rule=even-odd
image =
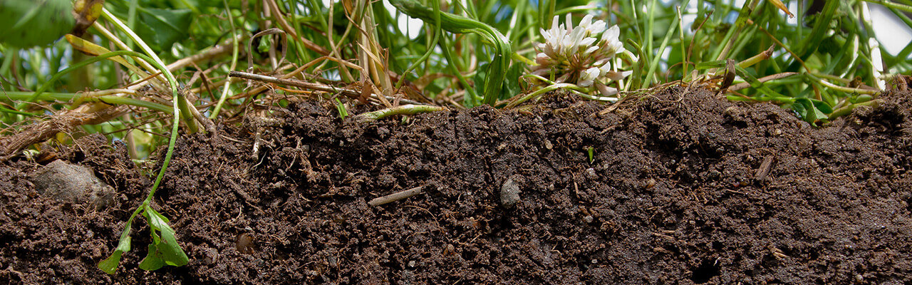
{"label": "tangled green grass and stems growing along the top of the soil", "polygon": [[[796,10],[787,11],[775,0],[740,6],[730,0],[674,2],[681,6],[656,0],[329,6],[314,0],[109,0],[84,37],[40,47],[20,47],[16,39],[0,45],[0,141],[51,114],[125,113],[97,124],[49,129],[52,133],[40,138],[81,135],[73,129],[101,132],[126,142],[138,161],[148,159],[155,146],[168,145],[149,195],[128,220],[115,254],[100,267],[116,269],[120,255],[130,250],[130,226],[140,213],[153,237],[140,268],[181,265],[186,256],[176,247],[168,219],[151,206],[176,136],[180,130],[212,132],[211,120],[231,121],[254,104],[319,98],[337,106],[343,120],[374,121],[482,104],[509,109],[553,90],[617,101],[657,86],[687,84],[723,91],[729,100],[772,102],[821,125],[856,106],[876,104],[891,78],[912,69],[907,60],[912,46],[887,54],[874,37],[883,31],[873,30],[869,12],[869,5],[885,5],[912,26],[906,14],[912,2],[797,2]],[[540,30],[552,28],[554,16],[563,21],[567,14],[575,21],[592,15],[618,26],[618,43],[626,51],[608,58],[610,70],[595,84],[581,83],[590,66],[573,67],[575,79],[562,79],[564,71],[531,74],[543,51]],[[419,33],[401,25],[408,16],[421,21]],[[692,24],[685,25],[689,18]],[[379,111],[349,114],[346,104],[358,102]],[[60,136],[57,142],[72,139]],[[0,153],[0,159],[22,151]],[[590,157],[592,151],[587,150]]]}

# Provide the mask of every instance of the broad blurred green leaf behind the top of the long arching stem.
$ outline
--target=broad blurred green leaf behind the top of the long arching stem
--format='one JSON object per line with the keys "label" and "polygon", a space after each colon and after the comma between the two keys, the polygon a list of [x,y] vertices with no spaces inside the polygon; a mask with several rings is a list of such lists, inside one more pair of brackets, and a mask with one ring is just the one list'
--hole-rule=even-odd
{"label": "broad blurred green leaf behind the top of the long arching stem", "polygon": [[149,39],[150,46],[161,51],[171,50],[171,46],[181,39],[190,37],[190,24],[193,13],[189,9],[140,9],[142,23],[138,26],[139,36]]}

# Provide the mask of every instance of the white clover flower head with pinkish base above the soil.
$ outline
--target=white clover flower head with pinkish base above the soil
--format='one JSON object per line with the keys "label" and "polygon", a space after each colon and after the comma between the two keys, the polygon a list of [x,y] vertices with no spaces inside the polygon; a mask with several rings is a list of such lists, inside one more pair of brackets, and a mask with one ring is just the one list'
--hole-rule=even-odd
{"label": "white clover flower head with pinkish base above the soil", "polygon": [[620,29],[592,19],[592,15],[586,15],[574,27],[569,14],[565,24],[560,23],[559,16],[554,16],[551,28],[541,30],[544,43],[535,45],[538,66],[532,69],[532,74],[544,77],[554,74],[556,82],[595,86],[603,96],[617,94],[617,89],[607,87],[606,82],[624,79],[631,73],[612,69],[612,59],[625,51],[618,39]]}

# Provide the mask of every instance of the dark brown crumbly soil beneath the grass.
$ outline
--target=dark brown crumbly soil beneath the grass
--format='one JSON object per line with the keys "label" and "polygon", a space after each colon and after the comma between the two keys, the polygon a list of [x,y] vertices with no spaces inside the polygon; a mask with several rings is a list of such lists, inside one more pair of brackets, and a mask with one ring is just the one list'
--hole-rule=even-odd
{"label": "dark brown crumbly soil beneath the grass", "polygon": [[555,95],[366,124],[297,102],[182,136],[154,206],[190,264],[138,269],[140,220],[115,275],[96,264],[150,170],[88,136],[54,152],[116,189],[100,210],[0,164],[0,283],[912,284],[910,98],[821,128],[680,88],[605,115]]}

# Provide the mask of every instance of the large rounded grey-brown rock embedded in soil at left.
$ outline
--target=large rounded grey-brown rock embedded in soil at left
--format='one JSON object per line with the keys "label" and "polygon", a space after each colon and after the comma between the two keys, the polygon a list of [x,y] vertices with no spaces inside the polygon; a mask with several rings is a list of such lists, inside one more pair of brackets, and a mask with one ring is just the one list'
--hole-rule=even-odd
{"label": "large rounded grey-brown rock embedded in soil at left", "polygon": [[38,193],[61,202],[94,205],[96,210],[113,202],[113,187],[98,179],[88,168],[61,160],[38,170],[32,182]]}

